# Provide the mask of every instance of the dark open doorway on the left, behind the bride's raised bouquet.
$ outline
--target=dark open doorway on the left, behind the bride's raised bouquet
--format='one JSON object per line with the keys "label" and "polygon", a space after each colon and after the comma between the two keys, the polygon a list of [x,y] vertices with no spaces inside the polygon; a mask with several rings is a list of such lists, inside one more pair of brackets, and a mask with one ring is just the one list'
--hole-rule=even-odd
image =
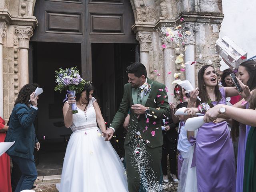
{"label": "dark open doorway on the left, behind the bride's raised bouquet", "polygon": [[[72,131],[64,127],[62,106],[66,93],[54,91],[55,70],[76,66],[81,72],[81,44],[32,42],[32,61],[32,81],[44,90],[39,96],[36,122],[37,137],[41,144],[38,175],[60,174]],[[43,172],[53,169],[55,172]]]}

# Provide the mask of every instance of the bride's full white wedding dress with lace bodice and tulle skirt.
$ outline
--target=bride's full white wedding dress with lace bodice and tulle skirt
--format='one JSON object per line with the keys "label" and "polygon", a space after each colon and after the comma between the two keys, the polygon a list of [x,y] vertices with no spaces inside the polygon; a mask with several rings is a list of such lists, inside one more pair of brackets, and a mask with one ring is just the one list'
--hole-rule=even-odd
{"label": "bride's full white wedding dress with lace bodice and tulle skirt", "polygon": [[128,192],[126,170],[109,141],[97,127],[92,98],[86,113],[73,114],[60,192]]}

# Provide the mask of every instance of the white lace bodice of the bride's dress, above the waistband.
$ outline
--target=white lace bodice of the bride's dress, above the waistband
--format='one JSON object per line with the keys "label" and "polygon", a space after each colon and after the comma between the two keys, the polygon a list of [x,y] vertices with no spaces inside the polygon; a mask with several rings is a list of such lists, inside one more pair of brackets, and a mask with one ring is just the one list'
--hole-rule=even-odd
{"label": "white lace bodice of the bride's dress, above the waistband", "polygon": [[73,114],[73,123],[70,127],[73,132],[80,130],[80,128],[97,126],[96,112],[92,105],[95,101],[97,100],[94,97],[90,99],[89,104],[87,106],[87,110],[85,112],[80,108],[77,108],[78,113]]}

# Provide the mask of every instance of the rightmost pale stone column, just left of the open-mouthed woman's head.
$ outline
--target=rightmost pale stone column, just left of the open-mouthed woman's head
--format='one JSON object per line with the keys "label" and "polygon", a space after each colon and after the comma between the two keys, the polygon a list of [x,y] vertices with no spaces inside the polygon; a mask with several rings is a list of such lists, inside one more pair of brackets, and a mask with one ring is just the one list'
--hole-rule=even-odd
{"label": "rightmost pale stone column, just left of the open-mouthed woman's head", "polygon": [[[186,24],[185,25],[188,30],[191,32],[191,35],[188,36],[187,41],[185,42],[185,62],[195,61],[195,36],[194,33],[198,31],[198,26],[193,24]],[[194,64],[186,65],[186,80],[189,80],[189,82],[192,84],[192,86],[195,88],[196,86],[196,67]]]}

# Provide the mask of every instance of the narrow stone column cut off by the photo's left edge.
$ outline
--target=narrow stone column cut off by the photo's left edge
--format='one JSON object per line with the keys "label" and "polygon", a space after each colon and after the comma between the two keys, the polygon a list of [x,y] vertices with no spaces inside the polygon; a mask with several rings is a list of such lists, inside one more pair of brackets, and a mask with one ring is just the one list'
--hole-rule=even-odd
{"label": "narrow stone column cut off by the photo's left edge", "polygon": [[0,22],[0,116],[4,118],[4,93],[3,93],[3,38],[6,36],[6,23]]}

